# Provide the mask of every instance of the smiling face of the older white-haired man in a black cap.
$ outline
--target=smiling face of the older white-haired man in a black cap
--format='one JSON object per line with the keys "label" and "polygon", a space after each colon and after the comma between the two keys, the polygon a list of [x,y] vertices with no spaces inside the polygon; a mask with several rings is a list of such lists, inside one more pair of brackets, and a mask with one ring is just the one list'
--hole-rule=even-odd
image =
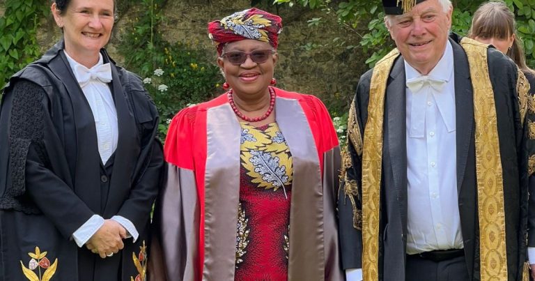
{"label": "smiling face of the older white-haired man in a black cap", "polygon": [[385,20],[403,59],[419,73],[428,74],[442,58],[451,27],[451,13],[451,6],[444,12],[438,0],[427,0],[408,13]]}

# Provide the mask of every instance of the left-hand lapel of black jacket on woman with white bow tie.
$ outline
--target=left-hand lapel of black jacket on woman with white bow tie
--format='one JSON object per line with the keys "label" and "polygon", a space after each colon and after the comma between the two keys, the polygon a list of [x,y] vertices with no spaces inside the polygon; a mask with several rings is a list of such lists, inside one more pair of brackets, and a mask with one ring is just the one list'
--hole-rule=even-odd
{"label": "left-hand lapel of black jacket on woman with white bow tie", "polygon": [[[61,42],[62,43],[62,42]],[[72,116],[76,133],[75,193],[86,202],[95,213],[100,213],[100,155],[98,153],[97,132],[93,112],[82,89],[70,69],[63,53],[63,44],[56,56],[49,61],[49,68],[58,77],[72,103]],[[68,144],[70,145],[70,144]]]}

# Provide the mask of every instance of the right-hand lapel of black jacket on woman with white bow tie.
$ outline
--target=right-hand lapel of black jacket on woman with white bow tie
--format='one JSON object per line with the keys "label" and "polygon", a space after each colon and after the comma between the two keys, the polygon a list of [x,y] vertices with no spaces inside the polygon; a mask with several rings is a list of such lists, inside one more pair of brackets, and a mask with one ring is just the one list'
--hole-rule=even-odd
{"label": "right-hand lapel of black jacket on woman with white bow tie", "polygon": [[[105,62],[109,57],[103,52]],[[132,173],[139,156],[139,134],[137,132],[134,115],[127,105],[127,97],[121,86],[121,80],[115,64],[111,63],[111,94],[114,96],[117,111],[118,141],[115,151],[114,168],[104,215],[115,215],[128,195],[132,185]]]}

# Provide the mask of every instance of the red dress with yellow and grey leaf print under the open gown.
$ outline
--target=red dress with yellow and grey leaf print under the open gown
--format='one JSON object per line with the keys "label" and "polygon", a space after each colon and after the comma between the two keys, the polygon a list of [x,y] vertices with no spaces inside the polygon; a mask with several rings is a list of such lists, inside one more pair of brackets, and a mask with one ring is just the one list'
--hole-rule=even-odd
{"label": "red dress with yellow and grey leaf print under the open gown", "polygon": [[277,123],[240,123],[235,280],[287,280],[292,157]]}

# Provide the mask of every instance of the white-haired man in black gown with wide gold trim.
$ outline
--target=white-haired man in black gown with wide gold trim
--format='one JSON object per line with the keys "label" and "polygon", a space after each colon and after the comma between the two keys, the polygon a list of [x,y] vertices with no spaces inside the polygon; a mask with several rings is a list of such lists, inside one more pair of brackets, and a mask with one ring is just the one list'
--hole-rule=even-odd
{"label": "white-haired man in black gown with wide gold trim", "polygon": [[524,75],[449,33],[449,0],[382,3],[397,48],[362,75],[349,114],[343,268],[350,280],[526,280]]}

